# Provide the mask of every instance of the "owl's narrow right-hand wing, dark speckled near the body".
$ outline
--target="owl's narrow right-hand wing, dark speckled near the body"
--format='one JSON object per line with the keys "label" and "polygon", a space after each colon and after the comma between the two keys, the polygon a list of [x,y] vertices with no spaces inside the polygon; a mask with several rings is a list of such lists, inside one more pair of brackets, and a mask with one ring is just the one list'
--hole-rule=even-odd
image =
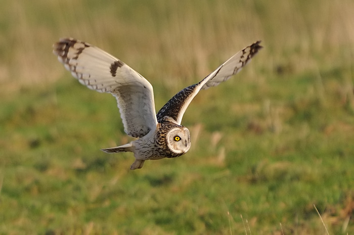
{"label": "owl's narrow right-hand wing, dark speckled near the body", "polygon": [[259,43],[260,41],[257,41],[252,45],[247,46],[245,49],[227,60],[224,64],[220,65],[203,80],[178,92],[157,113],[157,121],[172,121],[180,125],[188,105],[197,95],[199,90],[207,89],[210,86],[216,86],[239,72],[258,52],[258,50],[262,48]]}

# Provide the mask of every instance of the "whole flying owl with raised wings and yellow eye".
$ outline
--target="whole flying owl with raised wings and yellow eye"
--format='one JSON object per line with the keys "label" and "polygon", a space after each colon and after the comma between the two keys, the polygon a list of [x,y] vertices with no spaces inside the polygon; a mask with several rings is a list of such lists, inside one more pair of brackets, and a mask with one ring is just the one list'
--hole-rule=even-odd
{"label": "whole flying owl with raised wings and yellow eye", "polygon": [[142,168],[146,160],[175,158],[187,153],[191,136],[181,121],[188,105],[199,90],[216,86],[239,72],[261,48],[260,41],[247,46],[203,80],[178,92],[157,115],[152,85],[121,60],[74,38],[56,42],[53,53],[80,83],[116,98],[124,131],[136,139],[102,151],[134,153],[135,161],[130,166],[134,170]]}

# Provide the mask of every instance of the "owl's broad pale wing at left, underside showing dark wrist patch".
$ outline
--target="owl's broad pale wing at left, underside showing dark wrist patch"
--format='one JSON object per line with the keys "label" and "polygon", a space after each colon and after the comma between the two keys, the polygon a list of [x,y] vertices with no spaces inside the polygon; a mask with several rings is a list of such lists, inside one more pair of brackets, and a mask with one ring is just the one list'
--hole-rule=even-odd
{"label": "owl's broad pale wing at left, underside showing dark wrist patch", "polygon": [[118,103],[124,131],[146,135],[157,125],[152,85],[119,59],[89,43],[63,38],[53,53],[71,74],[90,89],[111,93]]}

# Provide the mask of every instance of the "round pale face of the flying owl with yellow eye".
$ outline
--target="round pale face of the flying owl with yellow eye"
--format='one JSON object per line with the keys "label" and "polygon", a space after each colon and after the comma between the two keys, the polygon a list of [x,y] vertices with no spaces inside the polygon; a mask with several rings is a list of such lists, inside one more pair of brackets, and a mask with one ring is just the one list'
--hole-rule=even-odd
{"label": "round pale face of the flying owl with yellow eye", "polygon": [[187,127],[178,126],[168,131],[166,144],[170,151],[178,156],[187,153],[191,148],[191,134]]}

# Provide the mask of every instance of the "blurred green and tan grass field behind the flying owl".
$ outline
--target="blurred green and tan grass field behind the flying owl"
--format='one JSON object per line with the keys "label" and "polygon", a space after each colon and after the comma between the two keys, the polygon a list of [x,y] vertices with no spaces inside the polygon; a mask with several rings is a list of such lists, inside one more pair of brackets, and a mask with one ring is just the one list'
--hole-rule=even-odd
{"label": "blurred green and tan grass field behind the flying owl", "polygon": [[[0,234],[354,234],[354,2],[8,1],[0,9]],[[201,91],[190,151],[128,170],[112,96],[52,54],[71,36],[154,86]],[[318,214],[316,208],[320,214]],[[327,233],[327,230],[328,233]]]}

